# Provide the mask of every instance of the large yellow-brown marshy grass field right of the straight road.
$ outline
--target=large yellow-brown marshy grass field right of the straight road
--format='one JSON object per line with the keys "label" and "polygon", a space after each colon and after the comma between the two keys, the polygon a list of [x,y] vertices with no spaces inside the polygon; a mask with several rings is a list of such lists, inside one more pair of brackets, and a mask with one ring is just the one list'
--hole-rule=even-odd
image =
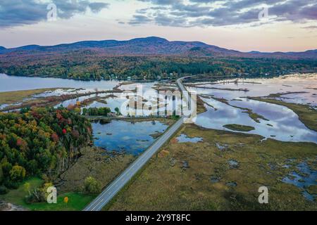
{"label": "large yellow-brown marshy grass field right of the straight road", "polygon": [[[261,141],[195,125],[180,134],[204,141],[170,140],[106,210],[317,210],[300,188],[282,182],[299,162],[316,170],[316,144]],[[260,186],[268,187],[267,205],[258,202]]]}

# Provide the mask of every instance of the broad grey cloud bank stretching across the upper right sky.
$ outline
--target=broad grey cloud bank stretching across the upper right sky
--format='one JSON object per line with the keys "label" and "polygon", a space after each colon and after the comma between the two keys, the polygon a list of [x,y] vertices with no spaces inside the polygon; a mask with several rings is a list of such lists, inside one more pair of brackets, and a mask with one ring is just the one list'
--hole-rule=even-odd
{"label": "broad grey cloud bank stretching across the upper right sky", "polygon": [[[133,15],[130,24],[175,27],[207,27],[225,25],[251,26],[274,21],[306,23],[317,20],[316,0],[138,0],[151,7],[142,8]],[[268,8],[268,20],[259,20],[259,13]],[[142,17],[138,17],[142,15]]]}

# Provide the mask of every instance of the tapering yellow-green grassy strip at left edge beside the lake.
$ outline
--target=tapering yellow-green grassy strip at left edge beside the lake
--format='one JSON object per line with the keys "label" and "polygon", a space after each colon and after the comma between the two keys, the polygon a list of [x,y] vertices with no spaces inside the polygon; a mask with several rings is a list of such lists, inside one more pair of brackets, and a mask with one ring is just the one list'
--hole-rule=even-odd
{"label": "tapering yellow-green grassy strip at left edge beside the lake", "polygon": [[7,91],[0,92],[0,105],[1,104],[12,104],[23,101],[24,98],[30,98],[35,94],[41,94],[45,91],[55,91],[56,89],[35,89],[27,91]]}

